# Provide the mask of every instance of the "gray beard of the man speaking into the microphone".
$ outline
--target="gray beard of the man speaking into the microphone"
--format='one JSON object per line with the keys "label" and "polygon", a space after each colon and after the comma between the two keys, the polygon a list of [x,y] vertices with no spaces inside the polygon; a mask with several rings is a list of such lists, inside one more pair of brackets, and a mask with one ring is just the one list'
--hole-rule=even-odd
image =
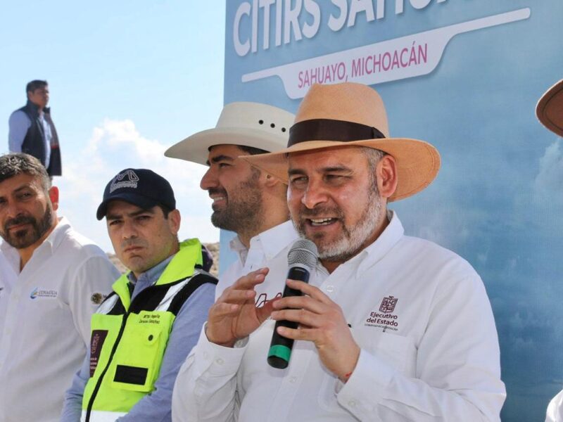
{"label": "gray beard of the man speaking into the microphone", "polygon": [[[341,210],[337,209],[337,211],[343,217]],[[362,216],[355,226],[346,227],[343,225],[342,236],[329,245],[322,245],[322,237],[318,239],[319,243],[315,242],[315,238],[310,238],[317,245],[319,259],[328,262],[343,262],[357,255],[360,252],[360,248],[365,248],[367,246],[365,243],[373,236],[383,211],[384,208],[381,204],[377,184],[374,184],[369,189],[367,207],[362,212]],[[343,224],[343,218],[341,218],[341,223]],[[307,237],[305,236],[305,227],[301,220],[297,224],[293,220],[293,226],[295,226],[301,237]]]}

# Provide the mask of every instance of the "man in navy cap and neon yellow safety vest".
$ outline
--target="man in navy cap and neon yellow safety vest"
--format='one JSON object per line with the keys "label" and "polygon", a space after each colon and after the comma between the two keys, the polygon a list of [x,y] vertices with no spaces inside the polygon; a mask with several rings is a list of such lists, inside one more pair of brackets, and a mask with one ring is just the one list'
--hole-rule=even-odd
{"label": "man in navy cap and neon yellow safety vest", "polygon": [[61,421],[170,421],[172,386],[215,297],[201,243],[180,243],[172,187],[145,169],[125,169],[106,186],[115,254],[129,271],[92,316],[87,359],[65,397]]}

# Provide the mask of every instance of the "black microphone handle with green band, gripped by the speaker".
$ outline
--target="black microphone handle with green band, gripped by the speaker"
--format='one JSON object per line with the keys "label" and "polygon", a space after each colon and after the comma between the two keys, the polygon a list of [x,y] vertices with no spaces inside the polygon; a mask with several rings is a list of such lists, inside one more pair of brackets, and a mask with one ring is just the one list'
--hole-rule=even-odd
{"label": "black microphone handle with green band, gripped by the speaker", "polygon": [[[291,280],[309,282],[309,271],[301,267],[291,267],[287,273],[287,278]],[[287,286],[284,288],[284,298],[291,296],[302,296],[301,290],[295,290]],[[293,347],[293,339],[286,338],[277,333],[278,327],[297,328],[298,323],[294,321],[280,320],[276,321],[274,333],[272,335],[272,343],[270,343],[270,351],[268,352],[268,364],[277,369],[285,369],[289,365],[291,357],[291,348]]]}

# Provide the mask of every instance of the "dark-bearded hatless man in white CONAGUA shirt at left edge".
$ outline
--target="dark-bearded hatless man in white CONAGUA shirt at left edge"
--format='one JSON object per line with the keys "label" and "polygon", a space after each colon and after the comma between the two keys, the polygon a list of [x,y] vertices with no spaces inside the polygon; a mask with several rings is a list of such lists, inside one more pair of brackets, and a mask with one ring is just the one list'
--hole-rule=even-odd
{"label": "dark-bearded hatless man in white CONAGUA shirt at left edge", "polygon": [[[58,421],[90,338],[91,315],[119,271],[58,218],[58,188],[23,153],[0,157],[0,421]],[[6,275],[6,273],[5,273]]]}

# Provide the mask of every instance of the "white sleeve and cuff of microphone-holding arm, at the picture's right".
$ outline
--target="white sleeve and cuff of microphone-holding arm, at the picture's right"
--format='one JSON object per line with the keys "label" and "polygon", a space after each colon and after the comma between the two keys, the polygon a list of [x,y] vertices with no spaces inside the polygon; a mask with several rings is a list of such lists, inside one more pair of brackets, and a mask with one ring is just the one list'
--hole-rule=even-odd
{"label": "white sleeve and cuff of microphone-holding arm, at the picture's right", "polygon": [[381,422],[381,414],[417,422],[500,421],[506,394],[483,283],[475,274],[443,290],[418,345],[416,378],[362,350],[348,382],[335,381],[339,404],[360,421]]}

